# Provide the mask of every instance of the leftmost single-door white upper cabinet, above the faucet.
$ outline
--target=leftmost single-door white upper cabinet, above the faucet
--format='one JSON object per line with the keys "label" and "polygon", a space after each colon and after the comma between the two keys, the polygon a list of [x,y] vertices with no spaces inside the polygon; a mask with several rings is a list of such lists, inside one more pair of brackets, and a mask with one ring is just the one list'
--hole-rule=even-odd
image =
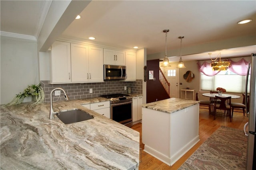
{"label": "leftmost single-door white upper cabinet, above the faucet", "polygon": [[71,82],[70,43],[55,41],[50,62],[50,83]]}

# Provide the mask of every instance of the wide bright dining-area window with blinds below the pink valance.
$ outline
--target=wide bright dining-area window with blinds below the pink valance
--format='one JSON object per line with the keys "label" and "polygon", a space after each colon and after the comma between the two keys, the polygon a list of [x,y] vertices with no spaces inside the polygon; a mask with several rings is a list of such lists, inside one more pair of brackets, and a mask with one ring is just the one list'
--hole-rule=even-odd
{"label": "wide bright dining-area window with blinds below the pink valance", "polygon": [[[216,88],[221,87],[230,93],[244,93],[246,76],[240,76],[230,70],[221,71],[215,76],[206,76],[201,72],[200,75],[201,90],[216,91]],[[249,80],[250,82],[250,76]],[[248,92],[250,91],[248,84]]]}

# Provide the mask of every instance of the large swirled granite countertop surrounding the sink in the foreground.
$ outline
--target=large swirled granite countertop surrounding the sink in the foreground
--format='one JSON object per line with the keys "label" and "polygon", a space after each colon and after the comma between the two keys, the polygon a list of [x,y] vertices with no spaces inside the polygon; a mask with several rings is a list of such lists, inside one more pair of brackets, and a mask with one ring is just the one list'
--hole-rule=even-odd
{"label": "large swirled granite countertop surrounding the sink in the foreground", "polygon": [[134,170],[140,134],[81,106],[104,101],[54,102],[54,111],[78,108],[94,116],[68,125],[49,119],[50,103],[1,106],[1,169]]}

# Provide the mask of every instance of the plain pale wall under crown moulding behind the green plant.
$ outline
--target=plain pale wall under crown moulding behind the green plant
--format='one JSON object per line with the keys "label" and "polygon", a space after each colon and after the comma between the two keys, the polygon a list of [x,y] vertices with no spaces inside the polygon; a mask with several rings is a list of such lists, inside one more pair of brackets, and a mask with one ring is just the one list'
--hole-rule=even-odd
{"label": "plain pale wall under crown moulding behind the green plant", "polygon": [[28,85],[39,84],[38,68],[35,41],[1,36],[0,104],[10,102]]}

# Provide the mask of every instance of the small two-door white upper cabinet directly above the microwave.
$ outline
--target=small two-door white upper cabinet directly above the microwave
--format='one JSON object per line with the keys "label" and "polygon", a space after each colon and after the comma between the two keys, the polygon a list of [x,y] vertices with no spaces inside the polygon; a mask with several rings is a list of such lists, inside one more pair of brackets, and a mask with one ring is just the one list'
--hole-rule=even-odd
{"label": "small two-door white upper cabinet directly above the microwave", "polygon": [[125,51],[104,49],[104,64],[125,66]]}

